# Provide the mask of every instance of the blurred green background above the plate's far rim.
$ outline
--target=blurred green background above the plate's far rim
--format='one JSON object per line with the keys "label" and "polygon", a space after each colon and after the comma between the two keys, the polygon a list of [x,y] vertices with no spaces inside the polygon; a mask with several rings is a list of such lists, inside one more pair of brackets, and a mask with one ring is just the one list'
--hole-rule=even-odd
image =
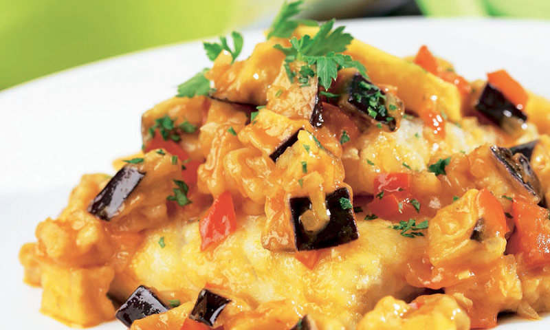
{"label": "blurred green background above the plate's far rim", "polygon": [[[307,0],[305,17],[550,18],[550,0]],[[101,58],[265,28],[282,0],[0,0],[0,89]]]}

